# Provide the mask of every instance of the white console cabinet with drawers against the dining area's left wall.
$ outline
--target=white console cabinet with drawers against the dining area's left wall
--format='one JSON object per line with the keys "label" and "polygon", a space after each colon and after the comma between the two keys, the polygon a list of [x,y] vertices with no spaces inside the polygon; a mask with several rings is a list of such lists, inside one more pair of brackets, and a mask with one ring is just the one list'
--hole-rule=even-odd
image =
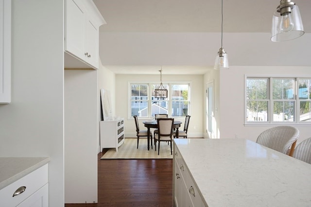
{"label": "white console cabinet with drawers against the dining area's left wall", "polygon": [[101,152],[103,148],[116,148],[124,143],[124,119],[100,122]]}

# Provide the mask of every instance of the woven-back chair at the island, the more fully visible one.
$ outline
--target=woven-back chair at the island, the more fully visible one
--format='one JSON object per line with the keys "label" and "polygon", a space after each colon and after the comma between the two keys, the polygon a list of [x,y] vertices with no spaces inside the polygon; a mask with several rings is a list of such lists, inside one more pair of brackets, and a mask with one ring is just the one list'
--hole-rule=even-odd
{"label": "woven-back chair at the island, the more fully visible one", "polygon": [[261,132],[256,143],[293,156],[298,136],[299,130],[293,126],[276,126]]}

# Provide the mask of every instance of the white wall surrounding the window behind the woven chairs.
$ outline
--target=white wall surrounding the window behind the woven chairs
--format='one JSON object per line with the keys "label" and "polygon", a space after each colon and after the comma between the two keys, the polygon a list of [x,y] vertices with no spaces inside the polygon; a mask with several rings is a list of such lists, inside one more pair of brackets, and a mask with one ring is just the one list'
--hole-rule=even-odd
{"label": "white wall surrounding the window behind the woven chairs", "polygon": [[[220,138],[247,138],[256,141],[260,132],[272,126],[244,126],[244,75],[310,77],[311,67],[231,66],[220,71]],[[290,125],[290,124],[289,124]],[[298,143],[311,137],[311,127],[294,125],[300,131]]]}

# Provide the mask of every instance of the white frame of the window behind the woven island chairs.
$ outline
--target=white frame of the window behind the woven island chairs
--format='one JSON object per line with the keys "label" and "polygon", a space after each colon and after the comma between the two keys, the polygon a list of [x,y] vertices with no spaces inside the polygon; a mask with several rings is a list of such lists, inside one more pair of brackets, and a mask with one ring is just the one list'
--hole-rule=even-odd
{"label": "white frame of the window behind the woven island chairs", "polygon": [[[251,79],[251,78],[259,78],[259,79],[263,79],[263,78],[267,78],[268,79],[268,86],[267,86],[267,94],[268,94],[268,121],[247,121],[246,120],[246,115],[247,115],[247,79]],[[294,94],[294,99],[292,100],[294,102],[294,121],[273,121],[273,102],[274,101],[278,101],[278,100],[273,100],[273,96],[272,96],[272,91],[273,88],[272,86],[272,80],[273,79],[294,79],[295,80],[295,94]],[[300,121],[299,117],[300,117],[300,101],[310,101],[310,99],[307,100],[301,100],[299,99],[298,94],[298,90],[299,90],[299,79],[311,79],[310,77],[300,77],[300,76],[267,76],[267,75],[249,75],[249,74],[245,74],[244,75],[244,125],[250,125],[250,126],[254,126],[254,125],[258,125],[258,126],[263,126],[263,125],[305,125],[305,126],[311,126],[311,121]],[[282,101],[282,100],[281,100]]]}

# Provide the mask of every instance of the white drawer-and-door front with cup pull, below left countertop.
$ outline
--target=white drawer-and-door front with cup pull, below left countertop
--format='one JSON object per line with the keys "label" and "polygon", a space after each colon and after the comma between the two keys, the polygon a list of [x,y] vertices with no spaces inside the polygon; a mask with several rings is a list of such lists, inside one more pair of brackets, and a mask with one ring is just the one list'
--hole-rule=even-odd
{"label": "white drawer-and-door front with cup pull, below left countertop", "polygon": [[0,206],[48,207],[48,196],[48,164],[45,164],[1,189]]}

